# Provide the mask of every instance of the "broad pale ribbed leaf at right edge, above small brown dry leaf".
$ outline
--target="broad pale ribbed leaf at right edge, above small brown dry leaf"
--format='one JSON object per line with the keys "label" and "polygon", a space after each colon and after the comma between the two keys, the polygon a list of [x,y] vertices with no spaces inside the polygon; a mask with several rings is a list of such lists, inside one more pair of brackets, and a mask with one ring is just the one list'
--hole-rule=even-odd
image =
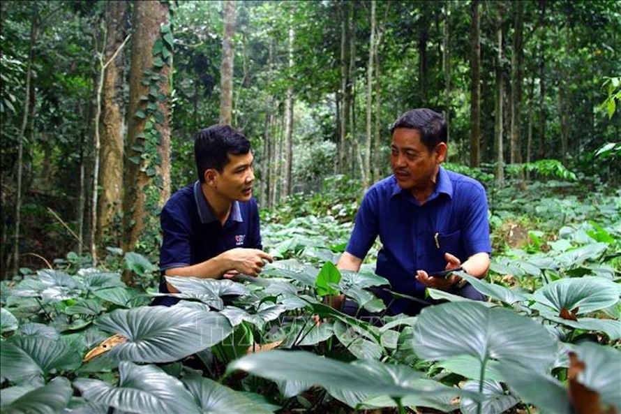
{"label": "broad pale ribbed leaf at right edge, above small brown dry leaf", "polygon": [[598,311],[619,302],[621,285],[597,276],[553,281],[533,294],[539,304],[548,306],[556,315],[562,309],[578,308],[578,315]]}

